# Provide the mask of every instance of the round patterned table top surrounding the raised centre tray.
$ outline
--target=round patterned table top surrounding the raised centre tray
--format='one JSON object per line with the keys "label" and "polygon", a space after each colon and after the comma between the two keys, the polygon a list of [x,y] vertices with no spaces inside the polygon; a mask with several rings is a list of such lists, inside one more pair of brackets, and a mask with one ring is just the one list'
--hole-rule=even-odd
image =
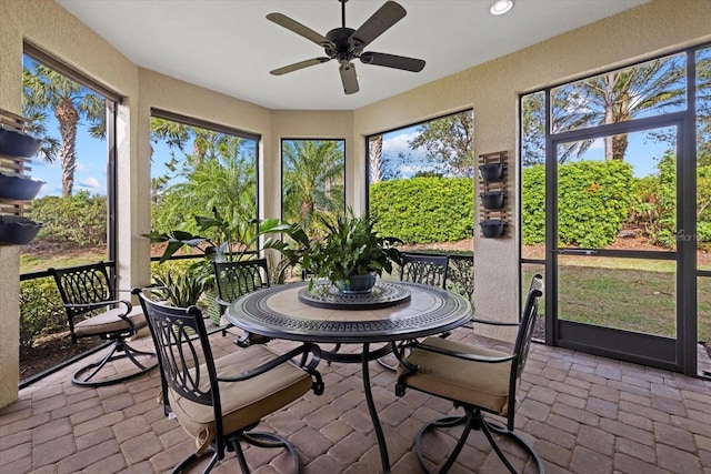
{"label": "round patterned table top surrounding the raised centre tray", "polygon": [[232,302],[226,315],[247,331],[310,342],[388,342],[438,334],[471,319],[469,301],[419,283],[391,282],[410,291],[401,304],[374,310],[317,307],[299,299],[308,282],[270,286]]}

